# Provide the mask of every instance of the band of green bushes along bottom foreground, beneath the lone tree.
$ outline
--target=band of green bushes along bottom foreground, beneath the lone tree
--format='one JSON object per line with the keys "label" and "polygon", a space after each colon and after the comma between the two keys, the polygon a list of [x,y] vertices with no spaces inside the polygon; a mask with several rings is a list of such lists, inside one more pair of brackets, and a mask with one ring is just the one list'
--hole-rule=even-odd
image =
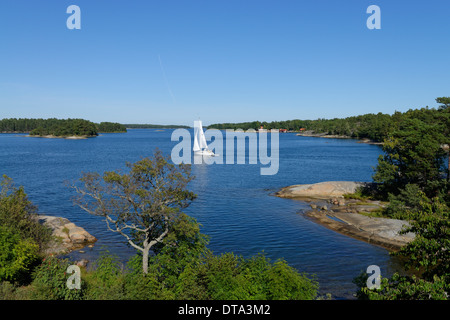
{"label": "band of green bushes along bottom foreground, beneath the lone tree", "polygon": [[312,300],[318,284],[284,260],[271,262],[263,254],[245,259],[232,253],[206,253],[165,271],[176,259],[158,255],[149,273],[142,273],[142,257],[124,266],[104,252],[90,270],[82,269],[81,289],[68,289],[67,259],[48,257],[35,269],[27,287],[0,284],[0,299],[38,300]]}

